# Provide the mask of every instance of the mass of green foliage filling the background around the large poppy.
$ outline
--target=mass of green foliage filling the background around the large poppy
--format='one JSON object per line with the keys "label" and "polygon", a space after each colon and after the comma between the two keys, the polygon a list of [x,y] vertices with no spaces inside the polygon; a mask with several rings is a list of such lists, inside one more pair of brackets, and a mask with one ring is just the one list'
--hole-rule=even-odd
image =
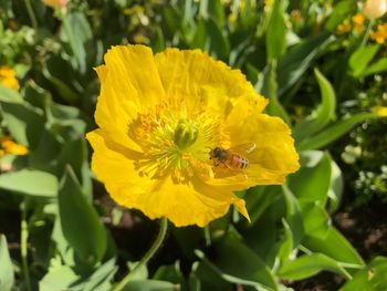
{"label": "mass of green foliage filling the background around the large poppy", "polygon": [[201,49],[241,69],[270,98],[266,112],[292,126],[302,165],[283,186],[240,194],[251,224],[230,211],[206,229],[172,228],[174,251],[125,290],[291,290],[321,271],[346,280],[342,290],[386,285],[386,258],[366,266],[331,220],[345,180],[356,204],[387,199],[386,122],[370,111],[387,106],[387,51],[366,32],[386,18],[338,33],[360,11],[354,3],[73,0],[54,11],[0,0],[0,64],[21,84],[0,86],[1,134],[29,148],[0,159],[0,231],[20,240],[12,249],[0,237],[0,290],[109,290],[148,243],[130,228],[121,231],[137,248],[113,236],[125,217],[153,239],[149,221],[106,201],[84,139],[100,86],[93,67],[122,43]]}

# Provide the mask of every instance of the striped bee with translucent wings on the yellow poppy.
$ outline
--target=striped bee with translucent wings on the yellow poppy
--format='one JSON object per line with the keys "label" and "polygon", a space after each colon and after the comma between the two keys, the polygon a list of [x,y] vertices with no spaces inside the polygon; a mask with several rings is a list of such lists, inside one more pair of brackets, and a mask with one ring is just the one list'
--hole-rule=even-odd
{"label": "striped bee with translucent wings on the yellow poppy", "polygon": [[243,154],[250,154],[254,149],[254,143],[238,145],[229,149],[217,146],[210,150],[210,159],[213,159],[216,167],[223,165],[233,172],[244,170],[249,167],[249,160]]}

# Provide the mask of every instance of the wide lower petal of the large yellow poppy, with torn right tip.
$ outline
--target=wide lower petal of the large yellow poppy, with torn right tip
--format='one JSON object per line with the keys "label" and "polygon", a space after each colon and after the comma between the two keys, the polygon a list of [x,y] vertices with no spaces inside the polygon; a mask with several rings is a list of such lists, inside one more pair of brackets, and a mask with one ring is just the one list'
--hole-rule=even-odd
{"label": "wide lower petal of the large yellow poppy, with torn right tip", "polygon": [[170,177],[140,177],[133,159],[135,152],[115,144],[102,129],[88,133],[87,139],[94,148],[93,172],[119,205],[139,209],[151,219],[168,217],[178,227],[203,227],[223,216],[231,204],[249,219],[244,201],[230,188],[205,185],[195,177],[189,185],[175,184]]}

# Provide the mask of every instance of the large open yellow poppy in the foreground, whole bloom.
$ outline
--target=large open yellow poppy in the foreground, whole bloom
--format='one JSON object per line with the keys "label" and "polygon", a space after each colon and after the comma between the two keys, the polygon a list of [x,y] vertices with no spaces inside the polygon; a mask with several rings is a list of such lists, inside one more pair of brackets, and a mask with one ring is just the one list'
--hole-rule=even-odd
{"label": "large open yellow poppy in the foreground, whole bloom", "polygon": [[[249,218],[234,191],[297,170],[289,127],[262,113],[268,100],[239,70],[199,50],[154,55],[144,45],[114,46],[105,63],[96,69],[100,128],[86,137],[92,168],[118,204],[203,227],[230,205]],[[216,147],[233,162],[211,159]]]}

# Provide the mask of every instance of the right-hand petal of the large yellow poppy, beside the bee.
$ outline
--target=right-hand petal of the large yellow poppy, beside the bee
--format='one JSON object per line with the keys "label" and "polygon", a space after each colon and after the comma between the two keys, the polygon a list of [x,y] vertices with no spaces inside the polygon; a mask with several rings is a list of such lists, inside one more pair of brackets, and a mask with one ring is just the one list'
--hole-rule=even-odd
{"label": "right-hand petal of the large yellow poppy, beside the bee", "polygon": [[252,114],[241,123],[228,123],[230,146],[255,144],[243,156],[249,160],[245,175],[255,185],[282,184],[285,176],[300,168],[299,155],[289,126],[279,117]]}

